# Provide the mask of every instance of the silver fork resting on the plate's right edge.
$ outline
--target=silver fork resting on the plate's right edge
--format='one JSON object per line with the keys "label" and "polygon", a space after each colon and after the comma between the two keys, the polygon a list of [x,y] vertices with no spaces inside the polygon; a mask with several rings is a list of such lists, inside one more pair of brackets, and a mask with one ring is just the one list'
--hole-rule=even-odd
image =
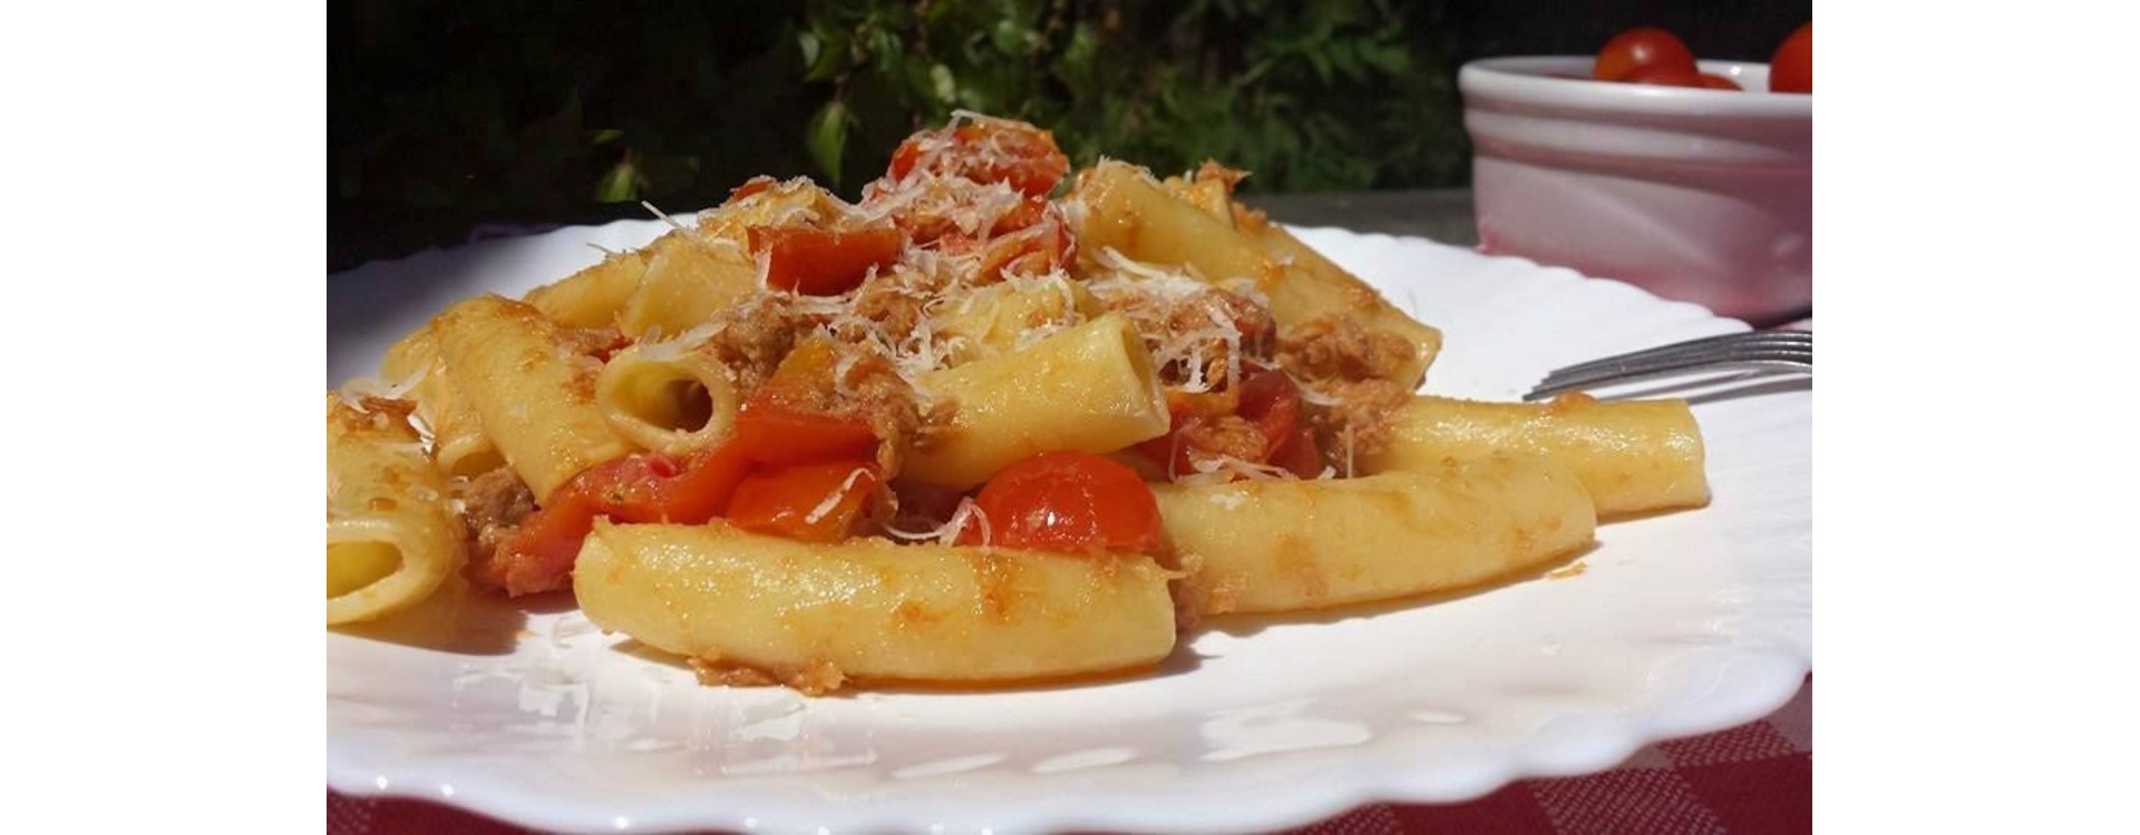
{"label": "silver fork resting on the plate's right edge", "polygon": [[1524,399],[1603,384],[1736,369],[1813,374],[1813,331],[1725,333],[1592,359],[1547,374]]}

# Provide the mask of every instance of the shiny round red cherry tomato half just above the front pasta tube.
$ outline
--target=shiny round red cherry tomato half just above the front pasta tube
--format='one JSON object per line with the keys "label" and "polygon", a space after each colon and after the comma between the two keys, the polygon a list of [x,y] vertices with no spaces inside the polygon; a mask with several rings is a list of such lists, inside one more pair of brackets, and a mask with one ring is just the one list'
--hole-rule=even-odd
{"label": "shiny round red cherry tomato half just above the front pasta tube", "polygon": [[[997,472],[974,498],[991,545],[1057,553],[1160,547],[1160,504],[1136,472],[1091,453],[1040,453]],[[980,545],[967,525],[961,545]]]}

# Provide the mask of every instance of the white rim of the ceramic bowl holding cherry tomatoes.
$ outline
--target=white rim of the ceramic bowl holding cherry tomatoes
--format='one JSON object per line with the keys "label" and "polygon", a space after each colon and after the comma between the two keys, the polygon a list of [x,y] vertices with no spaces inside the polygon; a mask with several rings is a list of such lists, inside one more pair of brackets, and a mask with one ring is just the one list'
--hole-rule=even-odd
{"label": "white rim of the ceramic bowl holding cherry tomatoes", "polygon": [[[1560,79],[1543,73],[1590,73],[1594,56],[1500,56],[1464,62],[1457,90],[1466,107],[1481,100],[1539,109],[1641,113],[1641,115],[1729,115],[1770,120],[1813,120],[1810,94],[1768,90],[1663,88],[1594,79]],[[1768,70],[1763,62],[1701,60],[1703,73],[1742,77]]]}

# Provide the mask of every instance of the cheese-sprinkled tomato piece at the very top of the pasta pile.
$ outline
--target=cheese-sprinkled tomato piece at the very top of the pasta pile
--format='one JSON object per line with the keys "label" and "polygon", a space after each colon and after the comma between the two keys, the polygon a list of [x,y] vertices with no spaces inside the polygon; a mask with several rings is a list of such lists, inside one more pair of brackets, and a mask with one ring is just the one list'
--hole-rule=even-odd
{"label": "cheese-sprinkled tomato piece at the very top of the pasta pile", "polygon": [[1029,124],[976,122],[914,135],[892,152],[892,179],[922,169],[978,184],[1010,184],[1023,194],[1046,194],[1070,173],[1070,158],[1055,135]]}

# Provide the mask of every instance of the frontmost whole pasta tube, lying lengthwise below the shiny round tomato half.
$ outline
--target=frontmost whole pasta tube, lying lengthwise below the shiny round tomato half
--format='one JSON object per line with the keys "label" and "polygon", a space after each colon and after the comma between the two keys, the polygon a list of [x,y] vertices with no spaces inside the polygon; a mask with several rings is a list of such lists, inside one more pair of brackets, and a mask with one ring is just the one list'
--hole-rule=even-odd
{"label": "frontmost whole pasta tube, lying lengthwise below the shiny round tomato half", "polygon": [[706,525],[610,525],[574,592],[603,630],[805,692],[845,679],[1019,681],[1149,666],[1175,645],[1151,557],[809,545]]}

